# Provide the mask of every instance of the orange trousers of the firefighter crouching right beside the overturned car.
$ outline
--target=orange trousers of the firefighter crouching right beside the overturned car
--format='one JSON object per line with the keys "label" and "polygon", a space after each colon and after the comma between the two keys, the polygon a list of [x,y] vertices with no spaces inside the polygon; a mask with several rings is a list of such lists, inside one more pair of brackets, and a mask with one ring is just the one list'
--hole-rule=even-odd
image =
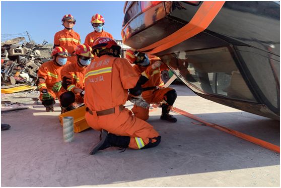
{"label": "orange trousers of the firefighter crouching right beside the overturned car", "polygon": [[[173,90],[173,88],[159,88],[154,90],[143,91],[142,97],[150,103],[160,103],[164,99],[164,95]],[[140,119],[147,120],[149,118],[149,108],[142,108],[134,105],[132,108],[134,115]]]}

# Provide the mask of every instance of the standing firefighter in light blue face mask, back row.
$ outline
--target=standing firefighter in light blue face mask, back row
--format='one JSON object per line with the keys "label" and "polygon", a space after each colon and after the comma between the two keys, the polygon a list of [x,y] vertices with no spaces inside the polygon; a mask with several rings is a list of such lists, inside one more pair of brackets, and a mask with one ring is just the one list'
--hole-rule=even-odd
{"label": "standing firefighter in light blue face mask, back row", "polygon": [[94,43],[94,40],[96,38],[108,37],[108,38],[113,39],[113,37],[112,37],[112,35],[110,33],[105,32],[103,30],[104,19],[103,19],[102,15],[96,14],[96,15],[92,16],[91,24],[92,24],[92,26],[94,28],[94,31],[89,33],[86,36],[84,43],[89,44],[89,46],[93,47],[93,43]]}

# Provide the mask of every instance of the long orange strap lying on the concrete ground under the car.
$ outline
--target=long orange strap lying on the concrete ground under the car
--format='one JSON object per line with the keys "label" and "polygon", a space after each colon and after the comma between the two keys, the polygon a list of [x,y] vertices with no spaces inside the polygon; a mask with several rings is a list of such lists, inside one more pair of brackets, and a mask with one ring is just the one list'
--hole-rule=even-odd
{"label": "long orange strap lying on the concrete ground under the car", "polygon": [[264,148],[266,148],[266,149],[269,149],[269,150],[272,150],[272,151],[274,151],[274,152],[280,153],[280,147],[279,147],[279,146],[276,146],[276,145],[274,145],[274,144],[270,144],[270,143],[268,143],[268,142],[265,142],[265,141],[263,141],[263,140],[257,139],[257,138],[255,138],[255,137],[251,137],[251,136],[246,135],[246,134],[244,134],[244,133],[240,133],[240,132],[238,132],[238,131],[235,131],[235,130],[232,130],[232,129],[228,129],[228,128],[219,126],[218,124],[206,122],[206,121],[200,119],[199,117],[197,117],[197,116],[195,116],[195,115],[193,115],[193,114],[191,114],[191,113],[188,113],[188,112],[186,112],[186,111],[183,111],[183,110],[181,110],[181,109],[179,109],[179,108],[176,108],[176,107],[173,107],[173,108],[172,108],[172,111],[174,111],[174,112],[176,112],[176,113],[179,113],[179,114],[182,114],[182,115],[184,115],[184,116],[186,116],[186,117],[192,118],[192,119],[194,119],[194,120],[196,120],[196,121],[202,122],[202,123],[204,123],[204,124],[205,124],[206,126],[208,126],[208,127],[216,128],[216,129],[218,129],[218,130],[220,130],[220,131],[223,131],[223,132],[229,133],[229,134],[231,134],[231,135],[234,135],[234,136],[236,136],[236,137],[239,137],[239,138],[241,138],[241,139],[247,140],[247,141],[249,141],[249,142],[252,142],[252,143],[254,143],[254,144],[257,144],[257,145],[259,145],[259,146],[261,146],[261,147],[264,147]]}

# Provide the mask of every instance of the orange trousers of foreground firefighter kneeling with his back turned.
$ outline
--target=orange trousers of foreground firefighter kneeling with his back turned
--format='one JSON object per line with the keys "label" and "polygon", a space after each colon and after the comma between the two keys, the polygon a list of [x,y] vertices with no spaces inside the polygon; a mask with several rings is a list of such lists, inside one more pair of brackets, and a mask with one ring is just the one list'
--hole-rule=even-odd
{"label": "orange trousers of foreground firefighter kneeling with his back turned", "polygon": [[[131,111],[127,108],[119,111],[119,107],[117,106],[115,107],[115,113],[97,116],[93,111],[93,114],[86,112],[85,115],[90,127],[97,131],[104,129],[117,136],[131,137],[129,148],[140,149],[137,146],[136,138],[141,138],[144,144],[147,145],[150,138],[159,136],[151,124],[131,115]],[[156,140],[152,139],[153,142],[156,142]]]}

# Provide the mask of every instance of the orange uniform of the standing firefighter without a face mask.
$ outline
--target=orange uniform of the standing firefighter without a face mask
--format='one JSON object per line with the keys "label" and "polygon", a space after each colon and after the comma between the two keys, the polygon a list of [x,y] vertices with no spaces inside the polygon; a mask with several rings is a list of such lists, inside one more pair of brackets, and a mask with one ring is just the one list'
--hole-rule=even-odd
{"label": "orange uniform of the standing firefighter without a face mask", "polygon": [[77,57],[73,56],[75,48],[80,44],[80,35],[73,29],[69,32],[67,29],[58,31],[54,35],[54,45],[64,47],[72,56],[67,57],[68,61],[76,62]]}

